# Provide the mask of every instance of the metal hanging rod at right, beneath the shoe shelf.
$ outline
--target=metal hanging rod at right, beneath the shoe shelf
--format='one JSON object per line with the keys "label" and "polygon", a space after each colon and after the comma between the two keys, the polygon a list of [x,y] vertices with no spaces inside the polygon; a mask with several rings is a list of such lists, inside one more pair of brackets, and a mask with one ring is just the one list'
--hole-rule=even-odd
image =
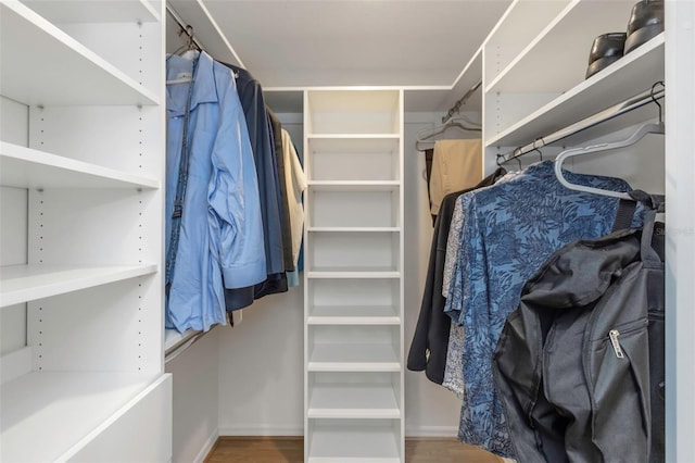
{"label": "metal hanging rod at right, beneath the shoe shelf", "polygon": [[[655,84],[656,86],[656,84]],[[653,88],[643,91],[642,93],[635,95],[634,97],[615,104],[599,113],[596,113],[592,116],[583,118],[569,127],[561,128],[556,130],[545,137],[540,137],[533,140],[532,142],[516,148],[513,151],[509,151],[505,154],[497,154],[497,162],[503,164],[507,161],[510,161],[515,158],[522,157],[531,151],[535,151],[539,148],[545,147],[547,145],[554,143],[556,141],[563,140],[567,137],[570,137],[574,134],[579,134],[582,130],[586,130],[595,125],[603,124],[604,122],[610,121],[615,117],[618,117],[622,114],[627,114],[630,111],[634,111],[639,108],[644,107],[645,104],[654,103],[657,100],[660,100],[665,97],[666,89],[661,88],[660,90],[654,90]]]}

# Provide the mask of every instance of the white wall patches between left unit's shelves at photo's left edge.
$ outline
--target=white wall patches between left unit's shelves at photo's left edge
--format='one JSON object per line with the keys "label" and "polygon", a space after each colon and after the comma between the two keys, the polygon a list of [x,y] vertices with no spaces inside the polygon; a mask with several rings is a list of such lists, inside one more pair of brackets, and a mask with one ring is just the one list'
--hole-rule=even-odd
{"label": "white wall patches between left unit's shelves at photo's left edge", "polygon": [[[0,139],[28,146],[29,109],[0,96]],[[0,187],[0,265],[27,262],[28,195],[24,188]],[[26,346],[26,304],[0,311],[0,354]]]}

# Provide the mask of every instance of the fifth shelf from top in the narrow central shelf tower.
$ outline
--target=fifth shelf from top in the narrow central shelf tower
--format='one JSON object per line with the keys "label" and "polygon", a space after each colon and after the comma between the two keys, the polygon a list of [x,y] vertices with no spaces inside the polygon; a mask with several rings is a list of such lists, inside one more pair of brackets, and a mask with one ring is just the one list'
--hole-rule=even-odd
{"label": "fifth shelf from top in the narrow central shelf tower", "polygon": [[401,317],[393,306],[321,305],[311,309],[309,325],[399,325]]}

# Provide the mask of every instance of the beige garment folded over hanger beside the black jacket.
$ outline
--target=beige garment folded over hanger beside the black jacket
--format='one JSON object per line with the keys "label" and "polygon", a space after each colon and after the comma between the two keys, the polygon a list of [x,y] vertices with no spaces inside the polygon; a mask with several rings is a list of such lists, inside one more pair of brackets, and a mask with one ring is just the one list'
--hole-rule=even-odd
{"label": "beige garment folded over hanger beside the black jacket", "polygon": [[450,192],[472,188],[482,180],[482,140],[437,140],[430,177],[430,210],[439,214]]}

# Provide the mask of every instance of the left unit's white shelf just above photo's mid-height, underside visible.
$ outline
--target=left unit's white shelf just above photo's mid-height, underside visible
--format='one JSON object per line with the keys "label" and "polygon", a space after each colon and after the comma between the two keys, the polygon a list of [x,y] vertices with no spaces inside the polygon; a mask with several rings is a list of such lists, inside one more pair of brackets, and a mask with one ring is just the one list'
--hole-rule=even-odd
{"label": "left unit's white shelf just above photo's mid-height, underside visible", "polygon": [[17,188],[159,188],[160,182],[0,141],[0,185]]}

